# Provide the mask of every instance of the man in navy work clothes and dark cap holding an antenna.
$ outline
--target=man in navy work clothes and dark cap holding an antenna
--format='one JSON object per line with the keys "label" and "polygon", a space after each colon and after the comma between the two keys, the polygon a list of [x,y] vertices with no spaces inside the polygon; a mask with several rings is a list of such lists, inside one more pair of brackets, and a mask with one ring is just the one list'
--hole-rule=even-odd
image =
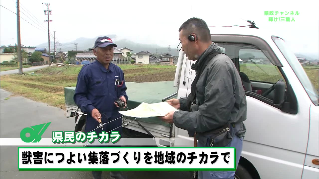
{"label": "man in navy work clothes and dark cap holding an antenna", "polygon": [[[118,112],[119,106],[115,100],[120,98],[126,106],[128,96],[122,69],[111,63],[114,47],[117,45],[112,39],[106,36],[97,38],[93,49],[97,60],[84,65],[78,74],[74,102],[83,113],[87,114],[85,133],[99,126],[99,121],[106,123],[114,120],[104,125],[103,131],[118,131],[122,134],[122,115]],[[115,120],[116,118],[118,119]],[[94,131],[100,134],[102,129]],[[102,171],[92,171],[92,173],[94,179],[101,179]],[[114,179],[124,179],[120,171],[111,171],[110,176]]]}

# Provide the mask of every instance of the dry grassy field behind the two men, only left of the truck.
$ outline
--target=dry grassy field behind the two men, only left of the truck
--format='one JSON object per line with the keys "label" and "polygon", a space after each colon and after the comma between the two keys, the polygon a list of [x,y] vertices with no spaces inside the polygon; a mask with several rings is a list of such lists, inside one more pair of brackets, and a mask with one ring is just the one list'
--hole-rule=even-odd
{"label": "dry grassy field behind the two men, only left of the truck", "polygon": [[[119,65],[127,82],[152,82],[174,80],[175,66]],[[14,94],[64,108],[64,87],[76,86],[81,65],[52,66],[33,74],[3,75],[0,86]]]}

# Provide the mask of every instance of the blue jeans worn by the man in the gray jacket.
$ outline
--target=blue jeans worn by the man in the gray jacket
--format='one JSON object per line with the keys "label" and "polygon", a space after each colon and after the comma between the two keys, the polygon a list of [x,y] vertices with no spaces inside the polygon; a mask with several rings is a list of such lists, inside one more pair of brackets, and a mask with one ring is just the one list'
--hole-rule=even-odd
{"label": "blue jeans worn by the man in the gray jacket", "polygon": [[[241,156],[242,140],[243,138],[234,136],[233,140],[226,146],[236,148],[236,167],[238,166]],[[197,147],[204,146],[201,143],[197,142]],[[236,171],[198,171],[198,179],[234,179],[235,172]]]}

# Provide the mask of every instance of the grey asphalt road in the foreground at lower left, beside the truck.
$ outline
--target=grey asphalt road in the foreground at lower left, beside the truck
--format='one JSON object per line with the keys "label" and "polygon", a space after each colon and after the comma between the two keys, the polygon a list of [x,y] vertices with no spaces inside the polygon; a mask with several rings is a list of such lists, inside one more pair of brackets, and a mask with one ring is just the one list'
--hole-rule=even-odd
{"label": "grey asphalt road in the foreground at lower left, beside the truck", "polygon": [[[62,109],[38,103],[20,96],[0,90],[0,137],[19,138],[20,131],[32,125],[51,122],[43,133],[43,138],[52,137],[52,131],[74,130],[74,118],[65,118]],[[28,146],[20,146],[28,147]],[[41,146],[38,146],[41,147]],[[70,146],[68,146],[70,147]],[[91,171],[19,171],[17,146],[0,146],[0,178],[1,179],[87,179],[93,178]],[[188,171],[128,171],[123,172],[128,179],[178,179],[191,178]],[[103,178],[109,172],[103,171]]]}

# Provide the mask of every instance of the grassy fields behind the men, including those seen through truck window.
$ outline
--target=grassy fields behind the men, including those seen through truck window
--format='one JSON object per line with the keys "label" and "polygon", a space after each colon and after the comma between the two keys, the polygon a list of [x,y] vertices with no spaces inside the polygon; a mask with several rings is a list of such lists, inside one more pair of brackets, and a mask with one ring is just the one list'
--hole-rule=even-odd
{"label": "grassy fields behind the men, including those seen through truck window", "polygon": [[[161,65],[119,65],[127,82],[156,82],[174,80],[173,66]],[[36,101],[64,108],[64,87],[76,86],[78,72],[82,66],[52,66],[42,68],[33,74],[1,76],[1,88]],[[250,80],[277,82],[282,76],[270,65],[242,64],[240,70]],[[309,79],[318,89],[318,70],[305,69]]]}

